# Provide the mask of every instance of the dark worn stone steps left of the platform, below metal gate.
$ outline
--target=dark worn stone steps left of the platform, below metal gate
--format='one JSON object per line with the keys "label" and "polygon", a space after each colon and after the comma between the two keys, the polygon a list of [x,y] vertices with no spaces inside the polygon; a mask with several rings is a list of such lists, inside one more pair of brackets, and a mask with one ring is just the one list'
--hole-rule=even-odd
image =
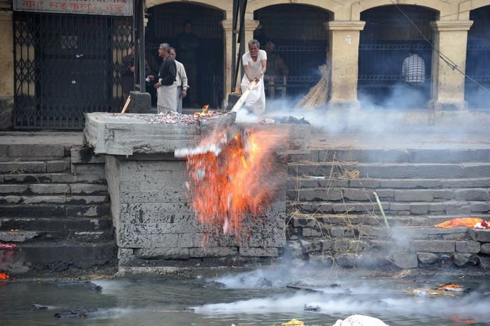
{"label": "dark worn stone steps left of the platform, below metal gate", "polygon": [[[70,144],[0,144],[0,271],[15,277],[114,273],[104,158]],[[6,260],[6,261],[5,261]]]}

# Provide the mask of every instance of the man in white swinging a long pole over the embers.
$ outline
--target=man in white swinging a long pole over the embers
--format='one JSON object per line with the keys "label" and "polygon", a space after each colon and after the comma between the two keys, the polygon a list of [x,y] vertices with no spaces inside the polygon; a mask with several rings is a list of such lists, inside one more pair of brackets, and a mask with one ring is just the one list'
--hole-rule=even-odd
{"label": "man in white swinging a long pole over the embers", "polygon": [[263,74],[267,69],[267,53],[260,49],[258,40],[249,41],[249,52],[241,57],[244,64],[245,75],[241,79],[241,93],[243,94],[250,83],[256,80],[257,86],[254,87],[249,97],[245,99],[245,106],[255,114],[263,114],[266,110],[266,93],[263,87]]}

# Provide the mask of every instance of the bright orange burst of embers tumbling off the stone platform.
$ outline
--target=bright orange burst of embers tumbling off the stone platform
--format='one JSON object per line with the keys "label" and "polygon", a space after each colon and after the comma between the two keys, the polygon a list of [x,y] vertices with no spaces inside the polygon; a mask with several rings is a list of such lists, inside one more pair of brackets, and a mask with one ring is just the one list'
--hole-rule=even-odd
{"label": "bright orange burst of embers tumbling off the stone platform", "polygon": [[219,226],[224,234],[234,232],[239,237],[249,213],[260,217],[271,205],[285,173],[276,168],[273,149],[284,136],[273,126],[268,127],[268,130],[236,129],[238,132],[232,133],[230,139],[224,138],[234,130],[230,127],[200,143],[202,148],[219,143],[218,151],[187,156],[188,188],[202,224]]}

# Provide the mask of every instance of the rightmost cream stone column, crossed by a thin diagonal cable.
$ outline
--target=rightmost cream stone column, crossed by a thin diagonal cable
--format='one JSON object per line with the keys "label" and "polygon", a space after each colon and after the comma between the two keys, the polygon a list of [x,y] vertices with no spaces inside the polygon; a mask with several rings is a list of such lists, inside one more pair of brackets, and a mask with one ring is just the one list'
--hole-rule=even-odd
{"label": "rightmost cream stone column, crossed by a thin diagonal cable", "polygon": [[[469,28],[473,21],[432,21],[434,45],[450,58],[458,69],[466,70],[466,50]],[[436,111],[464,110],[464,75],[432,51],[432,99],[430,106]]]}

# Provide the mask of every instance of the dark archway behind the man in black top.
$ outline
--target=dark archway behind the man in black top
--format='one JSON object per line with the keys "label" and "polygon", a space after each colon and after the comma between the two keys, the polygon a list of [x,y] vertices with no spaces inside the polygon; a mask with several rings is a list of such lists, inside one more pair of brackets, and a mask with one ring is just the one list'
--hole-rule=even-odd
{"label": "dark archway behind the man in black top", "polygon": [[[192,32],[199,39],[195,50],[197,82],[190,82],[191,89],[183,101],[183,107],[220,107],[223,100],[223,56],[224,38],[221,21],[224,13],[217,9],[197,4],[170,3],[148,9],[146,28],[146,58],[151,70],[158,72],[161,58],[158,58],[158,45],[169,43],[177,48],[177,60],[183,50],[176,43],[179,33],[183,32],[185,22],[192,23]],[[183,60],[179,60],[183,61]],[[185,62],[183,62],[185,65]],[[187,74],[190,79],[190,74]],[[192,87],[195,85],[195,87]],[[192,94],[190,94],[193,92]],[[195,103],[192,103],[195,102]]]}

